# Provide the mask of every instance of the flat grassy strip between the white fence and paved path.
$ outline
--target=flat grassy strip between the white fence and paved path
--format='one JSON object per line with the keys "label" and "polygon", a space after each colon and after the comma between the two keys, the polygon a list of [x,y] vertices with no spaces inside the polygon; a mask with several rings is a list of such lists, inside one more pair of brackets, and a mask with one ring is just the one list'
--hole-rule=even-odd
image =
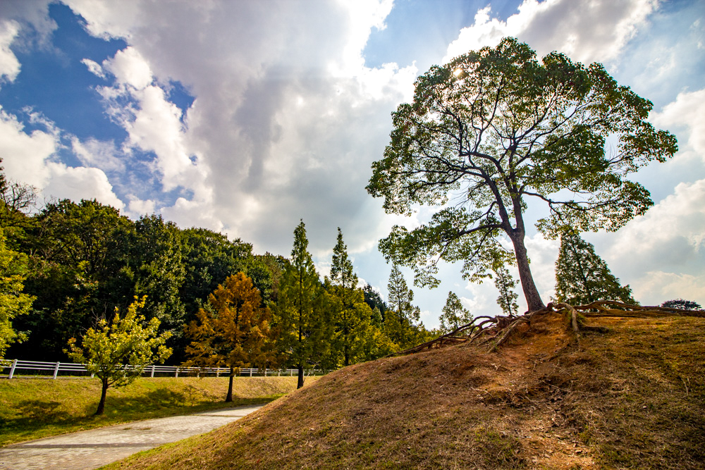
{"label": "flat grassy strip between the white fence and paved path", "polygon": [[139,419],[271,402],[295,389],[295,377],[238,377],[233,402],[225,403],[227,377],[138,378],[126,387],[110,388],[105,414],[92,416],[100,399],[97,378],[13,378],[0,381],[0,445]]}

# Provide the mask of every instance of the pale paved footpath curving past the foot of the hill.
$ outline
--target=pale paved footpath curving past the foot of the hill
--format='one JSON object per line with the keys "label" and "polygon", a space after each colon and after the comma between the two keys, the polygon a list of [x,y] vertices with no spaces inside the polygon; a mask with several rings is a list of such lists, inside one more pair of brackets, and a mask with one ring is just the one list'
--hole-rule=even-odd
{"label": "pale paved footpath curving past the foot of the hill", "polygon": [[135,452],[207,433],[263,405],[211,410],[188,416],[146,419],[0,448],[0,469],[90,470]]}

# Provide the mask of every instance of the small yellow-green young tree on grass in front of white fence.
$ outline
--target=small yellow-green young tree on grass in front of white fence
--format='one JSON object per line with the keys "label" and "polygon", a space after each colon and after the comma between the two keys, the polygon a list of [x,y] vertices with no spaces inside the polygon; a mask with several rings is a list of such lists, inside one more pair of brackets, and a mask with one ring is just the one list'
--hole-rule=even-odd
{"label": "small yellow-green young tree on grass in front of white fence", "polygon": [[109,387],[122,387],[135,381],[145,366],[164,362],[171,355],[171,348],[164,345],[171,333],[159,334],[159,319],[145,323],[137,311],[145,307],[146,297],[130,304],[123,318],[118,309],[111,323],[102,319],[98,328],[89,328],[83,335],[82,345],[76,339],[68,340],[68,356],[85,365],[102,383],[100,402],[95,414],[103,414]]}

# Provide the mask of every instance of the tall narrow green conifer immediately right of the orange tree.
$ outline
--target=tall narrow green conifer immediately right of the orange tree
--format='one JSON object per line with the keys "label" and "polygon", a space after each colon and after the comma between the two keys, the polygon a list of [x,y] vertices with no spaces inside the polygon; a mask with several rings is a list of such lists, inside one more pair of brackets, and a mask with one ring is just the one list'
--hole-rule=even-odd
{"label": "tall narrow green conifer immediately right of the orange tree", "polygon": [[320,364],[329,354],[330,306],[308,252],[306,227],[294,230],[290,264],[279,284],[278,319],[281,349],[298,369],[298,385],[304,385],[304,366]]}

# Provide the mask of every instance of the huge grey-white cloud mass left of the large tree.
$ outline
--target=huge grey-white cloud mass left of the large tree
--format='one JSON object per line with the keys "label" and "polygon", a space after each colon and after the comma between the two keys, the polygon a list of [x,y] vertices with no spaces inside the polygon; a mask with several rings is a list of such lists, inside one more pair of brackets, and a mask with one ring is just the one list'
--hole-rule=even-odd
{"label": "huge grey-white cloud mass left of the large tree", "polygon": [[[376,240],[382,212],[357,221],[364,185],[388,113],[410,98],[417,73],[364,66],[362,49],[385,27],[391,1],[68,4],[92,35],[129,44],[102,64],[115,82],[100,92],[128,131],[126,149],[154,152],[164,190],[188,192],[172,206],[157,202],[161,214],[273,252],[288,252],[299,218],[321,254],[338,225],[364,228],[351,252]],[[174,81],[195,97],[187,110],[168,99]]]}

